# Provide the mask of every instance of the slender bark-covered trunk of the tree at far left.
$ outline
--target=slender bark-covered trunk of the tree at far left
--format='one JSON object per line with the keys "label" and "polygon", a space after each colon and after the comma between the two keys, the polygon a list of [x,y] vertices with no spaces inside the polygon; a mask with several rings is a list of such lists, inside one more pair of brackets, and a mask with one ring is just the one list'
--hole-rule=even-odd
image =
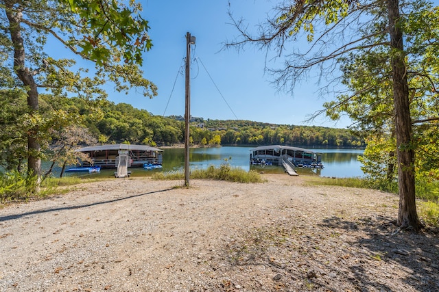
{"label": "slender bark-covered trunk of the tree at far left", "polygon": [[[5,11],[8,16],[11,40],[14,45],[14,70],[25,88],[27,88],[27,105],[29,114],[32,116],[38,114],[38,90],[34,73],[25,67],[25,47],[21,36],[23,13],[19,7],[19,5],[16,5],[16,1],[5,1]],[[27,134],[27,172],[36,176],[36,185],[32,191],[38,192],[41,181],[41,159],[39,157],[41,146],[37,139],[38,125],[35,128],[30,129]]]}

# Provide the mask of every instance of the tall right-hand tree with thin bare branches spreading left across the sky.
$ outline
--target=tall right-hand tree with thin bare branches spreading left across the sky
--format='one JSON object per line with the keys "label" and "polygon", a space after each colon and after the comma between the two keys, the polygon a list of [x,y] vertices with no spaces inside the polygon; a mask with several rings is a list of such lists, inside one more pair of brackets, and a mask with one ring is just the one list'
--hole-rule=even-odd
{"label": "tall right-hand tree with thin bare branches spreading left across the sky", "polygon": [[[274,47],[278,56],[285,57],[285,66],[270,70],[276,76],[274,80],[276,85],[281,88],[289,88],[290,85],[294,88],[296,81],[300,80],[300,77],[307,77],[307,72],[311,68],[320,67],[322,76],[333,76],[334,68],[340,64],[339,62],[343,62],[344,58],[348,59],[355,54],[361,55],[364,52],[374,51],[374,57],[377,58],[375,61],[378,61],[379,51],[381,51],[381,57],[388,60],[387,63],[381,63],[381,66],[390,68],[386,76],[389,82],[381,83],[380,88],[386,91],[388,101],[391,101],[391,103],[385,103],[384,107],[387,106],[387,114],[392,116],[391,127],[396,137],[395,151],[398,161],[400,196],[396,223],[401,229],[410,228],[417,232],[422,228],[422,224],[416,213],[411,100],[407,81],[407,51],[405,51],[403,40],[416,38],[419,32],[414,36],[404,35],[405,20],[410,17],[405,17],[407,16],[405,14],[401,15],[401,10],[416,13],[420,7],[425,7],[425,3],[423,1],[401,1],[401,3],[404,5],[403,8],[400,7],[399,0],[287,1],[276,8],[276,14],[269,18],[265,25],[259,27],[261,34],[257,36],[252,36],[242,21],[235,21],[240,38],[230,42],[228,46],[239,47],[252,43],[259,44],[262,49],[270,50]],[[292,47],[289,42],[296,41],[300,36],[306,36],[310,44],[302,51],[298,47]],[[434,34],[429,36],[429,40],[437,42]],[[423,49],[419,47],[419,50],[425,51],[425,47]],[[379,69],[380,63],[377,62],[374,68]],[[365,81],[365,78],[361,80]],[[383,96],[382,93],[384,92],[367,96],[377,96],[375,99],[377,101]],[[349,101],[353,96],[360,95],[361,91],[354,91],[344,100]],[[370,103],[370,100],[366,99],[359,100],[359,105],[382,107],[383,103]],[[333,114],[334,111],[331,109],[335,107],[348,109],[348,106],[348,103],[343,101],[332,103],[328,114]],[[361,113],[361,110],[357,112]],[[384,111],[364,112],[382,114]],[[353,118],[355,120],[356,117]],[[359,122],[368,122],[371,116],[358,115],[357,118]]]}

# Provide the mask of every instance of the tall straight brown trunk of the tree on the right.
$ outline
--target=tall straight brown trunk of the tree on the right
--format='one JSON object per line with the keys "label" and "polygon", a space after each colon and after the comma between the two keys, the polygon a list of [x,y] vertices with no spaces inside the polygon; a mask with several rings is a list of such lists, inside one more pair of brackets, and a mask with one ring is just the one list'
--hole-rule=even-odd
{"label": "tall straight brown trunk of the tree on the right", "polygon": [[396,155],[398,156],[399,211],[397,224],[418,232],[423,226],[416,213],[414,150],[409,88],[399,14],[399,0],[387,0],[390,47],[392,49],[393,101],[395,110]]}

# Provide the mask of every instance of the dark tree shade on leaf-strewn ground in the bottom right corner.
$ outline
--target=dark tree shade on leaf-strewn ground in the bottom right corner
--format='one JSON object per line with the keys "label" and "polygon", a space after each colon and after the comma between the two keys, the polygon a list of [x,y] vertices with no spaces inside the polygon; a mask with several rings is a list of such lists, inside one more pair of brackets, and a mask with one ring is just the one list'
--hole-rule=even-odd
{"label": "dark tree shade on leaf-strewn ground in the bottom right corner", "polygon": [[[322,228],[344,230],[346,235],[353,230],[359,230],[365,235],[352,238],[349,243],[351,247],[366,252],[366,256],[372,260],[372,266],[377,267],[375,273],[370,273],[367,269],[370,265],[361,265],[360,261],[359,265],[348,266],[354,277],[346,278],[346,281],[351,281],[355,287],[361,287],[360,291],[395,291],[394,287],[385,283],[399,277],[401,271],[404,271],[410,276],[402,278],[402,282],[406,288],[410,287],[410,291],[439,291],[437,230],[427,229],[420,234],[400,232],[392,235],[396,226],[391,223],[391,219],[377,216],[355,222],[339,217],[323,220]],[[399,287],[401,288],[403,287]]]}

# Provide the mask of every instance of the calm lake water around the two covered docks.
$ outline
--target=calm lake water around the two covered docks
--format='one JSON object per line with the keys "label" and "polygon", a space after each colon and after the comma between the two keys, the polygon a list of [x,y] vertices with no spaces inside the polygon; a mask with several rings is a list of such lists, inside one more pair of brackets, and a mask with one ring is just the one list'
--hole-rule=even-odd
{"label": "calm lake water around the two covered docks", "polygon": [[[233,167],[242,168],[246,171],[257,170],[265,173],[283,174],[283,168],[275,165],[250,165],[250,149],[254,147],[213,147],[213,148],[191,148],[189,165],[191,170],[204,169],[209,165],[221,165],[230,163]],[[185,166],[184,148],[164,148],[163,168],[158,170],[143,170],[143,168],[130,168],[132,176],[148,176],[154,172],[167,172],[183,170]],[[363,155],[364,149],[327,149],[312,148],[313,151],[322,153],[324,168],[298,168],[298,174],[355,177],[363,176],[361,163],[357,161],[359,155]],[[59,169],[54,172],[59,176]],[[101,170],[99,174],[67,173],[66,176],[113,176],[115,170]]]}

